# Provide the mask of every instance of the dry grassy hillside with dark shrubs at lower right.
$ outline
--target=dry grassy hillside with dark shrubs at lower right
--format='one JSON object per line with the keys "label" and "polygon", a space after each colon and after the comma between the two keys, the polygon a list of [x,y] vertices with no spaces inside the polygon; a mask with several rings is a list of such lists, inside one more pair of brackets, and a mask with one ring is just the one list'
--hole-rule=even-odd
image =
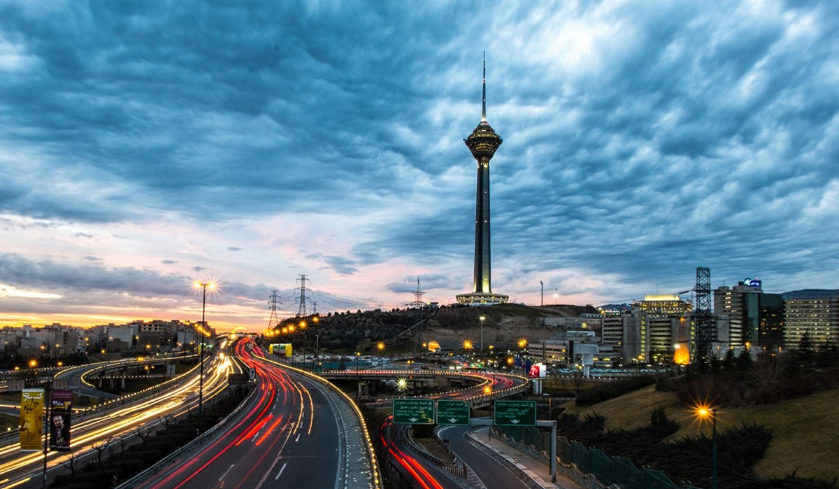
{"label": "dry grassy hillside with dark shrubs at lower right", "polygon": [[[698,423],[673,392],[657,392],[645,387],[621,397],[586,408],[574,402],[564,405],[565,413],[581,416],[597,413],[607,418],[607,429],[634,429],[649,423],[650,413],[664,406],[667,415],[681,425],[670,439],[711,434],[710,423]],[[812,396],[750,408],[724,409],[717,413],[717,429],[742,423],[759,423],[772,430],[774,437],[763,460],[755,465],[758,476],[798,476],[832,480],[839,476],[839,389]],[[561,427],[560,427],[561,434]],[[619,455],[619,454],[614,454]],[[710,463],[710,454],[709,461]]]}

